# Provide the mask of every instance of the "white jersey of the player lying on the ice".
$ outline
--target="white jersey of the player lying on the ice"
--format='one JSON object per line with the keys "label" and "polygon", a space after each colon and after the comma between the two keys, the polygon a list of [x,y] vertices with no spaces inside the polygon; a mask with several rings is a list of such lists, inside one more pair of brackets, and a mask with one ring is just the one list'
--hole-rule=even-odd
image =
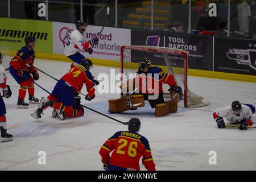
{"label": "white jersey of the player lying on the ice", "polygon": [[239,116],[234,113],[234,111],[232,110],[232,106],[226,106],[221,109],[216,109],[214,112],[219,117],[224,117],[227,121],[231,123],[239,123],[242,119],[245,119],[246,121],[251,119],[251,121],[254,123],[253,111],[251,111],[251,108],[244,104],[241,104],[241,106],[242,111]]}

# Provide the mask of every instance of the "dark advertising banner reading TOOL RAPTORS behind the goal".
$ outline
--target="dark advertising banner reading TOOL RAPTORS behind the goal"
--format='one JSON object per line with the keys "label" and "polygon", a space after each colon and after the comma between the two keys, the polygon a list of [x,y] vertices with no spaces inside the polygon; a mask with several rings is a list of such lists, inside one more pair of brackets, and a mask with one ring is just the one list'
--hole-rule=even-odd
{"label": "dark advertising banner reading TOOL RAPTORS behind the goal", "polygon": [[[213,38],[210,36],[198,36],[189,34],[177,34],[172,32],[152,32],[131,30],[131,45],[134,46],[160,46],[174,49],[184,49],[189,52],[188,68],[212,71],[213,68]],[[142,52],[134,51],[132,60],[146,57]],[[165,64],[162,56],[158,54],[147,55],[152,64]],[[172,61],[179,65],[181,56],[172,56]],[[176,60],[175,60],[176,59]]]}

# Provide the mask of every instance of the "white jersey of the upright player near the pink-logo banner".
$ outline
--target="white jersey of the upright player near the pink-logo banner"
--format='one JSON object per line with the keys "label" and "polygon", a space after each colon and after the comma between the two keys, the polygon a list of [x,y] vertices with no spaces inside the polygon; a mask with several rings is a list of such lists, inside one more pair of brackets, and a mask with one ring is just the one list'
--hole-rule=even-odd
{"label": "white jersey of the upright player near the pink-logo banner", "polygon": [[65,44],[65,56],[71,56],[84,49],[85,32],[73,30],[69,35],[68,42]]}

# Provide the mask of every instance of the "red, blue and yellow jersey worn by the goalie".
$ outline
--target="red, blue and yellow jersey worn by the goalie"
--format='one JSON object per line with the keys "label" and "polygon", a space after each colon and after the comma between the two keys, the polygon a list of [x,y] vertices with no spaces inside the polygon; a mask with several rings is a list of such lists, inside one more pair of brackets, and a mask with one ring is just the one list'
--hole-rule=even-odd
{"label": "red, blue and yellow jersey worn by the goalie", "polygon": [[163,84],[177,85],[174,76],[163,72],[159,67],[150,67],[146,73],[139,70],[137,74],[135,87],[139,87],[141,93],[163,93]]}

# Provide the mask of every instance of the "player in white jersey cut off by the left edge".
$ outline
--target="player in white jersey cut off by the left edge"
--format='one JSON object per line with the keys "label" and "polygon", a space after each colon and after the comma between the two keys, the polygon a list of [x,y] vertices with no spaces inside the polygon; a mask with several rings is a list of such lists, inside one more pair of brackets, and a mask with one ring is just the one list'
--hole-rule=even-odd
{"label": "player in white jersey cut off by the left edge", "polygon": [[11,97],[11,89],[9,85],[6,85],[6,72],[5,68],[2,67],[2,53],[0,52],[0,132],[2,142],[8,142],[13,140],[13,135],[10,135],[6,132],[6,108],[5,102],[3,102],[3,97],[9,98]]}

